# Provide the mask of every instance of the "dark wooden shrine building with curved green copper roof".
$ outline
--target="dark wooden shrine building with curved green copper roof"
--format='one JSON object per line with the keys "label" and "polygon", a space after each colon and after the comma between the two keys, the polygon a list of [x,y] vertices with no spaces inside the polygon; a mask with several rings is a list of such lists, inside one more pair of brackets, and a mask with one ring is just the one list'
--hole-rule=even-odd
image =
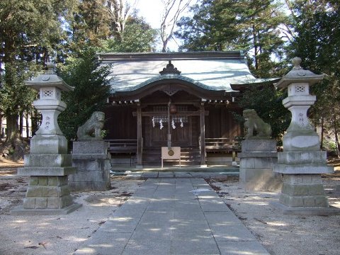
{"label": "dark wooden shrine building with curved green copper roof", "polygon": [[137,167],[161,164],[161,147],[181,147],[183,162],[205,166],[207,153],[227,154],[242,130],[232,113],[254,78],[242,51],[106,53],[111,66],[106,140],[113,157]]}

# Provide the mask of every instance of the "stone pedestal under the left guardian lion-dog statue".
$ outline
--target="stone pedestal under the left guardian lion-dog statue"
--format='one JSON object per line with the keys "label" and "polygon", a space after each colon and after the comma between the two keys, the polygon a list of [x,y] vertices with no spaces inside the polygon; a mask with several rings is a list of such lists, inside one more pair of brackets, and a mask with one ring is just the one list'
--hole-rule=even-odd
{"label": "stone pedestal under the left guardian lion-dog statue", "polygon": [[69,176],[69,186],[74,191],[107,191],[110,182],[110,154],[103,140],[74,142],[72,164],[77,174]]}

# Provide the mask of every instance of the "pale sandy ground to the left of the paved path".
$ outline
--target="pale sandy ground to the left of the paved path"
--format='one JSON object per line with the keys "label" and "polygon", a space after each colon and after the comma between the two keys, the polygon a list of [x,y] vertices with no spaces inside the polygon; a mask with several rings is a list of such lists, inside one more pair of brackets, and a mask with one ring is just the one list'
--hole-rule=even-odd
{"label": "pale sandy ground to the left of the paved path", "polygon": [[116,177],[110,191],[72,193],[83,206],[69,215],[15,216],[10,211],[22,205],[28,186],[15,174],[0,169],[1,255],[73,254],[145,181]]}

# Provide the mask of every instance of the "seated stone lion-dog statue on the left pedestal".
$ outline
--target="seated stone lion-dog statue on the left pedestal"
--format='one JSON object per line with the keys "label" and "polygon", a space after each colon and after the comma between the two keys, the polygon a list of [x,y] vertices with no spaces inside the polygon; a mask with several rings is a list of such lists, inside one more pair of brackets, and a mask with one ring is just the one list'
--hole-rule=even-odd
{"label": "seated stone lion-dog statue on the left pedestal", "polygon": [[94,112],[89,120],[86,120],[84,125],[81,125],[77,130],[79,141],[102,140],[101,130],[104,126],[105,113]]}

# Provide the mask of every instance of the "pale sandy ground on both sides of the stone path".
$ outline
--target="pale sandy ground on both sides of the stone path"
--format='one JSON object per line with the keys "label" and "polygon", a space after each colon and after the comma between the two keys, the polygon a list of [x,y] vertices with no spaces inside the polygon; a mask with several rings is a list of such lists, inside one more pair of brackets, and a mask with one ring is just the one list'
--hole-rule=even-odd
{"label": "pale sandy ground on both sides of the stone path", "polygon": [[[336,173],[323,176],[329,204],[340,208],[340,161]],[[16,176],[23,162],[0,159],[0,254],[72,254],[145,180],[111,179],[110,191],[76,192],[83,206],[69,215],[14,216],[11,210],[23,203],[28,177]],[[238,178],[207,180],[225,203],[248,227],[270,254],[340,254],[339,216],[290,216],[271,208],[278,193],[246,192]]]}

